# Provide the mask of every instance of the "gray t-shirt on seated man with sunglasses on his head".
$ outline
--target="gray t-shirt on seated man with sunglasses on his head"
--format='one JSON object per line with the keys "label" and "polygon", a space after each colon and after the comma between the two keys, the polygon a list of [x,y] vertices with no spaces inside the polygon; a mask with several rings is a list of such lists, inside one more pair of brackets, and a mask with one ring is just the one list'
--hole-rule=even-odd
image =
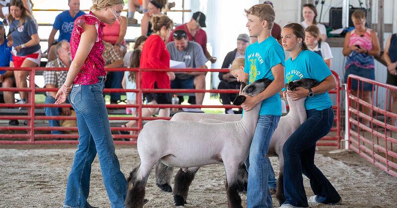
{"label": "gray t-shirt on seated man with sunglasses on his head", "polygon": [[[188,47],[184,51],[178,51],[174,42],[168,43],[167,49],[170,52],[171,60],[183,61],[188,68],[198,68],[207,62],[201,46],[193,41],[188,42]],[[175,76],[178,79],[190,79],[194,77],[186,73],[177,73]]]}

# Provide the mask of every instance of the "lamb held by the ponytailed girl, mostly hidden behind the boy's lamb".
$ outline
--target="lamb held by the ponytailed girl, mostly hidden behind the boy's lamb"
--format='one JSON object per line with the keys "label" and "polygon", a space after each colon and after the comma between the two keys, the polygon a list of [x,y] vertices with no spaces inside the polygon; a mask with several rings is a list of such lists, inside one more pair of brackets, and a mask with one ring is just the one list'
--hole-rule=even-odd
{"label": "lamb held by the ponytailed girl, mostly hidden behind the boy's lamb", "polygon": [[[291,90],[295,90],[296,87],[314,87],[318,85],[318,82],[313,79],[302,79],[289,84]],[[300,99],[297,101],[292,101],[287,98],[290,110],[287,115],[282,116],[278,123],[276,130],[270,140],[269,150],[267,156],[277,156],[279,158],[279,177],[277,180],[277,192],[276,198],[282,204],[285,201],[283,192],[283,169],[284,169],[284,159],[282,155],[282,147],[286,140],[291,136],[293,132],[307,119],[305,110],[305,99]],[[177,114],[176,114],[177,115]],[[233,119],[238,119],[236,116],[223,115],[216,117],[214,114],[193,115],[193,114],[183,114],[173,119],[185,119],[185,120],[199,120],[199,122],[204,123],[219,123],[224,121],[230,121]],[[189,186],[192,183],[196,172],[199,167],[189,168],[188,171],[179,170],[175,176],[174,180],[174,201],[176,206],[183,206],[186,203]],[[164,184],[170,184],[171,176],[173,173],[173,167],[168,167],[160,162],[156,166],[156,181],[157,185],[164,190]],[[237,183],[239,190],[246,190],[248,180],[248,172],[245,170],[245,166],[240,164],[237,176]],[[160,185],[162,184],[162,185]],[[168,185],[169,186],[169,185]],[[169,186],[171,189],[171,186]]]}

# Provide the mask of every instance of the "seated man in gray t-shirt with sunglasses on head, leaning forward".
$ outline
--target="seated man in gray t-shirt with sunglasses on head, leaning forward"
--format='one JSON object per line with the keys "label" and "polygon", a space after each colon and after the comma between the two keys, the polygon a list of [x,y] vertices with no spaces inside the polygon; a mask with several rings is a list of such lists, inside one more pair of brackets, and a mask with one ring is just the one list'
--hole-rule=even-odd
{"label": "seated man in gray t-shirt with sunglasses on head, leaning forward", "polygon": [[[174,41],[167,44],[171,60],[185,62],[187,68],[207,68],[207,58],[198,43],[189,41],[184,30],[174,31],[173,36]],[[205,90],[205,74],[206,72],[175,72],[171,88]],[[195,96],[195,104],[202,104],[204,93],[196,93]]]}

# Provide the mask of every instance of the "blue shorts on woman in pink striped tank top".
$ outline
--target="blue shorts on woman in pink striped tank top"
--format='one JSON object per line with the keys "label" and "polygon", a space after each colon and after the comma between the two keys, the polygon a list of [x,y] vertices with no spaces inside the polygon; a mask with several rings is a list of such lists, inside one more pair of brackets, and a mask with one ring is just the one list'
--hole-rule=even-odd
{"label": "blue shorts on woman in pink striped tank top", "polygon": [[[375,80],[375,69],[364,69],[356,65],[351,65],[349,66],[349,68],[346,69],[344,73],[344,83],[347,83],[347,77],[349,76],[349,74],[354,74],[367,79]],[[358,80],[353,79],[351,81],[351,89],[357,90],[358,88],[357,86],[358,86]],[[360,82],[360,90],[372,91],[372,84],[366,82]]]}

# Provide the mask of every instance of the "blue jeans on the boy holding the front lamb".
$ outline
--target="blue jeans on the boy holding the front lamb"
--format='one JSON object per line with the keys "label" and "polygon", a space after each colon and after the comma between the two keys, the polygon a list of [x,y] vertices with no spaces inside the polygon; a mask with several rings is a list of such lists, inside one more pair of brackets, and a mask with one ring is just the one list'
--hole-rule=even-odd
{"label": "blue jeans on the boy holding the front lamb", "polygon": [[[272,208],[272,200],[267,186],[269,159],[265,157],[280,116],[260,115],[246,162],[248,170],[248,208]],[[267,158],[267,159],[266,159]],[[270,164],[271,165],[271,164]],[[274,173],[273,173],[274,174]]]}

